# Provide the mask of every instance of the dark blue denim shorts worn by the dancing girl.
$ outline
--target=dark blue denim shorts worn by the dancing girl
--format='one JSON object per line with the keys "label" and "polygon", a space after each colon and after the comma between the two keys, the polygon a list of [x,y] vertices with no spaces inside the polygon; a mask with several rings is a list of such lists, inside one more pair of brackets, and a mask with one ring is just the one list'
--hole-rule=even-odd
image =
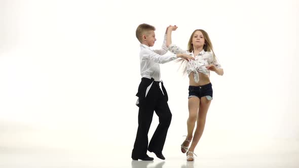
{"label": "dark blue denim shorts worn by the dancing girl", "polygon": [[189,96],[191,97],[206,97],[208,100],[213,99],[212,83],[203,86],[189,86]]}

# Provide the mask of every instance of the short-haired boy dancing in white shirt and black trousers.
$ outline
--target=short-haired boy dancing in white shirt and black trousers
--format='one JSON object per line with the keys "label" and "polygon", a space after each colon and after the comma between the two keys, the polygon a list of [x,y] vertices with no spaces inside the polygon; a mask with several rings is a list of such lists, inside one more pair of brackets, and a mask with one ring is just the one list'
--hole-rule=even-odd
{"label": "short-haired boy dancing in white shirt and black trousers", "polygon": [[[136,105],[139,107],[138,112],[138,130],[132,151],[133,160],[154,160],[149,157],[146,152],[154,152],[160,159],[165,159],[162,154],[165,143],[167,131],[171,122],[172,114],[168,107],[168,96],[161,81],[162,90],[160,89],[160,66],[177,58],[193,59],[193,57],[185,54],[171,54],[167,53],[166,35],[162,49],[151,50],[156,41],[155,27],[148,24],[140,24],[136,29],[136,37],[140,41],[140,73],[141,82],[138,87],[138,97]],[[163,56],[162,56],[163,55]],[[149,142],[148,148],[148,130],[152,123],[154,111],[159,117],[159,125]]]}

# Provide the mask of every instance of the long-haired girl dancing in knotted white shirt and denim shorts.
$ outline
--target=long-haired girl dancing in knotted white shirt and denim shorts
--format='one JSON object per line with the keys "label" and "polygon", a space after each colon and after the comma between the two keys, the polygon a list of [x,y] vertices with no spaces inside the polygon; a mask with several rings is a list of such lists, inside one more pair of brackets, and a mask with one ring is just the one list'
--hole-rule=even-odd
{"label": "long-haired girl dancing in knotted white shirt and denim shorts", "polygon": [[[189,76],[190,85],[188,134],[181,144],[181,151],[183,153],[187,152],[188,161],[194,161],[194,150],[203,134],[207,112],[213,98],[212,84],[209,79],[210,71],[223,75],[223,69],[214,55],[212,43],[206,31],[202,29],[194,30],[189,39],[188,50],[184,51],[171,44],[171,32],[176,29],[177,26],[170,26],[167,30],[166,46],[168,50],[173,54],[187,54],[195,58],[190,62],[183,59],[179,60],[184,67],[184,74]],[[196,130],[193,136],[195,124]],[[190,143],[191,146],[188,148]]]}

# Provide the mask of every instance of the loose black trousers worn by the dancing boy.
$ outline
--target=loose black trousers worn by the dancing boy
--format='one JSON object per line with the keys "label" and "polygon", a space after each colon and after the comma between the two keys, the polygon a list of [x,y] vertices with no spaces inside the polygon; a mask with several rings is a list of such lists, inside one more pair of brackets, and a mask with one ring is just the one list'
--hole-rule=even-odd
{"label": "loose black trousers worn by the dancing boy", "polygon": [[[146,88],[152,82],[152,87],[145,97]],[[132,158],[146,157],[147,150],[155,153],[161,153],[163,150],[172,114],[168,107],[168,96],[162,81],[161,84],[164,94],[160,89],[159,82],[154,81],[153,78],[141,79],[136,95],[139,97],[139,105],[137,105],[139,107],[138,130],[132,151]],[[159,125],[148,144],[147,134],[152,123],[154,111],[159,117]]]}

